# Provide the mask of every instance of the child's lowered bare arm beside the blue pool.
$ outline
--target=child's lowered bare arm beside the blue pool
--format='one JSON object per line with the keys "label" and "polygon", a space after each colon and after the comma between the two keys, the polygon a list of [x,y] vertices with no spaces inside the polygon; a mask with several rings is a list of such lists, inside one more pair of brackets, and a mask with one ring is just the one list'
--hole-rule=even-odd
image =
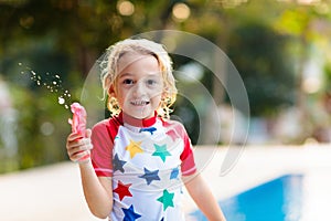
{"label": "child's lowered bare arm beside the blue pool", "polygon": [[205,214],[210,221],[225,221],[225,217],[217,204],[209,186],[205,183],[201,175],[191,175],[190,177],[183,177],[185,187],[199,207],[199,209]]}

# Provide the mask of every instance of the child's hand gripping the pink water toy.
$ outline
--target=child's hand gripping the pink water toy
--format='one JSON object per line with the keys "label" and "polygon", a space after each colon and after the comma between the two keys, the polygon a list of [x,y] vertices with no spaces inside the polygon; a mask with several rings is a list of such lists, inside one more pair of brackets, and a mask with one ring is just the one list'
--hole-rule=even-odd
{"label": "child's hand gripping the pink water toy", "polygon": [[70,159],[74,162],[88,162],[90,160],[90,129],[86,129],[85,137],[81,134],[72,133],[66,139],[66,151]]}

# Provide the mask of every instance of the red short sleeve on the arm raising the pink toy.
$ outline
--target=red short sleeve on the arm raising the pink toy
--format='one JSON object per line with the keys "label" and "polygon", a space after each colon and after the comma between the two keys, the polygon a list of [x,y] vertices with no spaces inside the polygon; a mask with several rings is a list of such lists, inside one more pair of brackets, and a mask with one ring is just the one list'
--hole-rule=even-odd
{"label": "red short sleeve on the arm raising the pink toy", "polygon": [[[113,176],[113,147],[118,127],[111,127],[111,119],[96,124],[92,129],[92,164],[98,177]],[[113,125],[114,126],[114,125]]]}

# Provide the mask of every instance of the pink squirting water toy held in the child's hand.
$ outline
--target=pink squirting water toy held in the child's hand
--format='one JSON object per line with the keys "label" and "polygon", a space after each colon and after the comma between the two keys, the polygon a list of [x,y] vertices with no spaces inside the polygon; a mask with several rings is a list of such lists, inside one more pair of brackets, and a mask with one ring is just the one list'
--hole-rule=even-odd
{"label": "pink squirting water toy held in the child's hand", "polygon": [[[72,131],[82,135],[83,138],[86,136],[86,110],[79,103],[73,103],[71,110],[73,113],[73,119],[68,119],[68,123],[72,125]],[[84,161],[88,158],[89,154],[86,154],[79,158],[78,161]]]}

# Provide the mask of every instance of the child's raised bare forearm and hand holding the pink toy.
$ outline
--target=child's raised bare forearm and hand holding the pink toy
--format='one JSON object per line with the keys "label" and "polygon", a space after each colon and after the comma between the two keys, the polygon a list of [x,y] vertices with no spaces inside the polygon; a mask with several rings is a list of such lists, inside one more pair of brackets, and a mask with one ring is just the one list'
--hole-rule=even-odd
{"label": "child's raised bare forearm and hand holding the pink toy", "polygon": [[[79,139],[79,135],[72,133],[67,137],[67,154],[72,161],[77,161],[93,148],[90,144],[90,130],[86,130],[86,137]],[[97,177],[90,159],[79,162],[84,196],[90,212],[102,219],[109,215],[113,210],[111,179]]]}

